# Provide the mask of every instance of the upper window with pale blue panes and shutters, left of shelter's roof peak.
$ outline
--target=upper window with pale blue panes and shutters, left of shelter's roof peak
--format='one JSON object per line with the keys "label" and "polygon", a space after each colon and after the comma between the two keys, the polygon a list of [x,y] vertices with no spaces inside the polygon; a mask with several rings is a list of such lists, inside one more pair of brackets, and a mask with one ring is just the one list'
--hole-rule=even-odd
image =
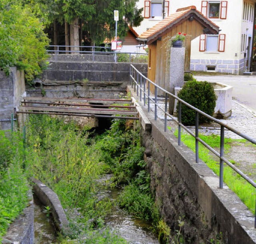
{"label": "upper window with pale blue panes and shutters, left of shelter's roof peak", "polygon": [[[169,1],[165,1],[165,16],[169,15]],[[144,2],[144,18],[155,18],[163,16],[162,0],[146,0]],[[159,19],[159,18],[158,18]]]}

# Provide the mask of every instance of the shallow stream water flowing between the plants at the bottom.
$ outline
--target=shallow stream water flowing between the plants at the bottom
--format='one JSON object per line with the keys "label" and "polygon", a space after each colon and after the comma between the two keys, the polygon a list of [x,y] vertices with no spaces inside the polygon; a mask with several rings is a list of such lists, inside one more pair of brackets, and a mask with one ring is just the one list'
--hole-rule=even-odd
{"label": "shallow stream water flowing between the plants at the bottom", "polygon": [[[101,191],[98,195],[99,197],[108,196],[115,201],[120,192],[121,189],[114,188],[109,191]],[[111,213],[106,216],[105,222],[111,232],[115,232],[129,243],[159,243],[157,236],[152,233],[152,225],[149,222],[134,218],[117,206],[114,206]],[[36,196],[34,196],[34,233],[35,244],[57,243],[54,223]]]}

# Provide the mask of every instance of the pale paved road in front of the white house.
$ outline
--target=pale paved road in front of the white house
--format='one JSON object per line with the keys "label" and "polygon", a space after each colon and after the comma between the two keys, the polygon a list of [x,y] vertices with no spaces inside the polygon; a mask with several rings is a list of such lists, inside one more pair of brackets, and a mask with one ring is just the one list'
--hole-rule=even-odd
{"label": "pale paved road in front of the white house", "polygon": [[232,97],[256,111],[256,76],[212,75],[194,76],[198,81],[214,81],[233,87]]}

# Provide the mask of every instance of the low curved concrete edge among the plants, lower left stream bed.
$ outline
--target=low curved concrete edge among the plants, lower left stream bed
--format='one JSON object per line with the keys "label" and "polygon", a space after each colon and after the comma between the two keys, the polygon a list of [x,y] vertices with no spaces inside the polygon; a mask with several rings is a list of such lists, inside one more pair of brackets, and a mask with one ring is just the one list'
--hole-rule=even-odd
{"label": "low curved concrete edge among the plants, lower left stream bed", "polygon": [[60,203],[58,195],[38,179],[32,178],[33,191],[44,206],[49,206],[55,226],[62,234],[70,232],[69,222]]}

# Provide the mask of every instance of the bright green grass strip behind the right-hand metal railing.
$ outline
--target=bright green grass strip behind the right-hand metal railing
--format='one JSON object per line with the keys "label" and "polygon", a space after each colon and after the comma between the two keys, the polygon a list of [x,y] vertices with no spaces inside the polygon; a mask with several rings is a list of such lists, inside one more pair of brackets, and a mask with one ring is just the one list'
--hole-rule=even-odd
{"label": "bright green grass strip behind the right-hand metal railing", "polygon": [[[174,135],[178,136],[178,131],[174,132]],[[199,136],[204,142],[206,142],[212,148],[219,148],[220,145],[220,136],[218,135],[210,135],[210,136]],[[189,134],[181,135],[182,142],[188,146],[193,152],[195,152],[195,139]],[[230,138],[225,138],[225,146],[224,149],[228,150],[230,148],[231,142],[243,143],[244,140],[232,140]],[[199,143],[199,158],[202,159],[216,173],[216,175],[220,175],[219,162],[213,159],[213,156],[210,155],[210,151]],[[232,161],[235,164],[234,161]],[[224,164],[224,182],[228,185],[228,187],[238,195],[238,197],[242,200],[242,202],[248,207],[248,209],[255,214],[255,200],[256,200],[256,192],[255,188],[248,183],[245,179],[243,179],[240,175],[238,175],[232,168],[228,167],[228,165]]]}

